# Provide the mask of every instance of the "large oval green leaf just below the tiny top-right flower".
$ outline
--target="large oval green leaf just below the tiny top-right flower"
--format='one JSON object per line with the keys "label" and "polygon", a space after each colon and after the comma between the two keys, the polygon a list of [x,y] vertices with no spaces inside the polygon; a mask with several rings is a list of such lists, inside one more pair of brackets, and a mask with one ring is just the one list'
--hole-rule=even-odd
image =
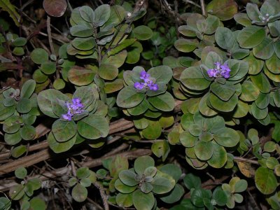
{"label": "large oval green leaf just below the tiny top-right flower", "polygon": [[241,48],[253,48],[259,45],[265,38],[265,29],[257,26],[249,26],[242,29],[237,41]]}

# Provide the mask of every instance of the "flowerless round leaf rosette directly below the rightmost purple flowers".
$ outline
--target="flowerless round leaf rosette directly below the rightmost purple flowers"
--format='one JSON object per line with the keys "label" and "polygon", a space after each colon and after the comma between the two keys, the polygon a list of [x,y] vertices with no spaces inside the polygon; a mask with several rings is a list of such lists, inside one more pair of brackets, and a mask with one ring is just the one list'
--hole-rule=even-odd
{"label": "flowerless round leaf rosette directly below the rightmost purple flowers", "polygon": [[204,117],[200,112],[185,113],[181,118],[179,139],[186,147],[186,160],[195,169],[204,169],[208,165],[223,167],[228,154],[225,148],[233,148],[239,143],[239,134],[230,127],[225,127],[221,116]]}

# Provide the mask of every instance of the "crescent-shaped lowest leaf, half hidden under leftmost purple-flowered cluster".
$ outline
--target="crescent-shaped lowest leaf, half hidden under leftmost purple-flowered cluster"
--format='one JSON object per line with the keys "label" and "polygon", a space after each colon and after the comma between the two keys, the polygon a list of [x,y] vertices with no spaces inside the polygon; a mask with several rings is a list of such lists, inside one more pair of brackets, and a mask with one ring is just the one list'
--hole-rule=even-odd
{"label": "crescent-shaped lowest leaf, half hidden under leftmost purple-flowered cluster", "polygon": [[75,144],[76,138],[77,135],[69,139],[69,141],[58,142],[52,132],[50,132],[50,134],[48,134],[47,141],[52,151],[55,153],[63,153],[65,151],[69,151],[69,149]]}

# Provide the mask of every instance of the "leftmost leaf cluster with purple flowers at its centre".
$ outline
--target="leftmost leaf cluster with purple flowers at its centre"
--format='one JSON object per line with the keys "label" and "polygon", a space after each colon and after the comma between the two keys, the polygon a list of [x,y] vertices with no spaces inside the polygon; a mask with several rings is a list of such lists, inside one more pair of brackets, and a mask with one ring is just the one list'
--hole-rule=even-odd
{"label": "leftmost leaf cluster with purple flowers at its centre", "polygon": [[93,147],[104,144],[100,138],[109,134],[109,122],[105,118],[108,110],[98,99],[96,85],[78,87],[72,99],[55,89],[38,94],[41,111],[46,116],[58,118],[52,124],[52,132],[47,139],[52,151],[68,151],[85,139],[99,139],[90,141]]}

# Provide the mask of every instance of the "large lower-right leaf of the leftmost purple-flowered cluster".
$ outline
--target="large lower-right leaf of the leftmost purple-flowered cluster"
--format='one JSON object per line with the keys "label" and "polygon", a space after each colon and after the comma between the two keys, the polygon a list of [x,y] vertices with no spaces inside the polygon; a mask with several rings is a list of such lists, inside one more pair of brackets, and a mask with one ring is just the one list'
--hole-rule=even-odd
{"label": "large lower-right leaf of the leftmost purple-flowered cluster", "polygon": [[109,134],[109,123],[103,116],[89,115],[78,121],[78,133],[86,139],[99,139]]}

